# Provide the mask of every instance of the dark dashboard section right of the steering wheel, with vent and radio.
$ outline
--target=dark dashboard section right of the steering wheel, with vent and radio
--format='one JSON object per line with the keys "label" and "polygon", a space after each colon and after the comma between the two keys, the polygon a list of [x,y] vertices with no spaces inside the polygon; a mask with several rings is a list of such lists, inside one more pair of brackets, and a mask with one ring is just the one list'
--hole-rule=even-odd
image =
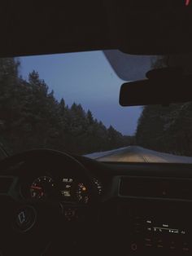
{"label": "dark dashboard section right of the steering wheel, with vent and radio", "polygon": [[94,165],[102,167],[101,181],[103,175],[111,180],[102,214],[107,248],[112,243],[113,252],[121,255],[191,254],[190,164]]}

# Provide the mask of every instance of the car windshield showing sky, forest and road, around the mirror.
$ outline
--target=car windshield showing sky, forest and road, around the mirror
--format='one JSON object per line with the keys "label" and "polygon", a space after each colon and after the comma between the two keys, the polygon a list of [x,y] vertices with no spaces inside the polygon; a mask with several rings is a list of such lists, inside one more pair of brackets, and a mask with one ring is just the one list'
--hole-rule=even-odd
{"label": "car windshield showing sky, forest and road, around the mirror", "polygon": [[91,51],[0,59],[0,143],[15,154],[52,148],[98,161],[192,163],[192,104],[123,108],[124,81],[164,56]]}

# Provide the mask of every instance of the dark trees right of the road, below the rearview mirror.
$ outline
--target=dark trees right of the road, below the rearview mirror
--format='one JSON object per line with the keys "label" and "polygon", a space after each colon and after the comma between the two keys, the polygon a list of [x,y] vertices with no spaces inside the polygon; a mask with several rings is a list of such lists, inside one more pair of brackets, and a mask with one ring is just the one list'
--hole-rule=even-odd
{"label": "dark trees right of the road, below the rearview mirror", "polygon": [[[166,67],[164,56],[152,63],[152,68],[162,67]],[[136,140],[144,148],[192,157],[192,103],[143,107]]]}

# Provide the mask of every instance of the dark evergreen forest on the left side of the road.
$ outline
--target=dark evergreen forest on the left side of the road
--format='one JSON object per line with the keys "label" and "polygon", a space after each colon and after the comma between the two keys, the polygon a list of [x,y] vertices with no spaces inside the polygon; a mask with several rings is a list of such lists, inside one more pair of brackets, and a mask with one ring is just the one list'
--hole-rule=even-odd
{"label": "dark evergreen forest on the left side of the road", "polygon": [[63,98],[55,99],[36,71],[24,80],[19,68],[14,58],[0,59],[0,142],[9,152],[54,148],[85,154],[132,143],[132,137],[107,128],[81,104],[68,107]]}

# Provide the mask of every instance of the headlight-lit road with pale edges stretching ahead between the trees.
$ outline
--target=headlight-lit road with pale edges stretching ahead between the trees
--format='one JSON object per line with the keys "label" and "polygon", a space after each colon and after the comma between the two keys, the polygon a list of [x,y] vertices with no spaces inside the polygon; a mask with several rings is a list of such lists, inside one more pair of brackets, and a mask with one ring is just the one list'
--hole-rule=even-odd
{"label": "headlight-lit road with pale edges stretching ahead between the trees", "polygon": [[138,146],[129,146],[108,152],[95,152],[86,155],[86,157],[98,161],[192,163],[192,157],[181,157],[168,153],[156,152]]}

